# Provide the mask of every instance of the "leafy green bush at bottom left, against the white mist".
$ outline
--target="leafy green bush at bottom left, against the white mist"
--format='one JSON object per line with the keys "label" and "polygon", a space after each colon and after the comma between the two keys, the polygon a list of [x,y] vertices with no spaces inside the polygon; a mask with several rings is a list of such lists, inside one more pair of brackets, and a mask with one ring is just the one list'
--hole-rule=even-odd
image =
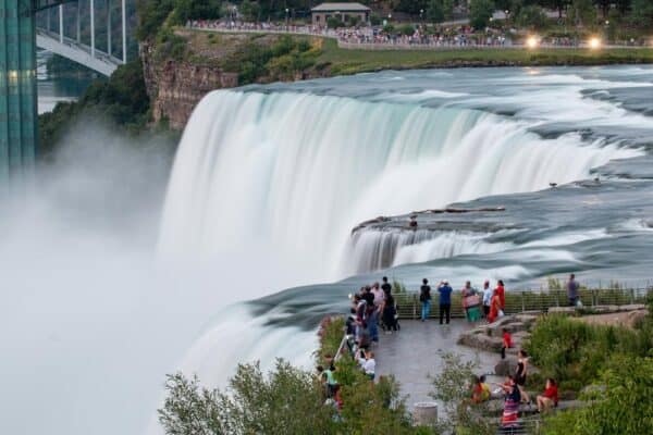
{"label": "leafy green bush at bottom left, against the white mist", "polygon": [[329,434],[333,425],[315,377],[281,360],[268,376],[258,363],[238,365],[229,394],[182,374],[165,389],[159,422],[169,435]]}

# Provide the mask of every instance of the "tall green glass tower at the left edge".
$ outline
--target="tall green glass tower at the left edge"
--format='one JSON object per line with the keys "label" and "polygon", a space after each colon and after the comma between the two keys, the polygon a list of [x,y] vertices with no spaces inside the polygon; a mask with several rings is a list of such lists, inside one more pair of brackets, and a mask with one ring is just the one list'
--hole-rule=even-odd
{"label": "tall green glass tower at the left edge", "polygon": [[32,0],[0,0],[0,183],[32,171],[37,149]]}

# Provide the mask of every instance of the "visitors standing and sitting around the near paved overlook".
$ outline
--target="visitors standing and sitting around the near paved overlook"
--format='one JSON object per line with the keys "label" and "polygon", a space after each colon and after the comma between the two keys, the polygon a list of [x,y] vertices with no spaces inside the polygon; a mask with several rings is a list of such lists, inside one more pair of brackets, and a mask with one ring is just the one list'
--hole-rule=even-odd
{"label": "visitors standing and sitting around the near paved overlook", "polygon": [[[579,301],[579,284],[574,274],[569,275],[567,282],[567,296],[570,306],[577,306]],[[452,295],[454,289],[448,281],[439,283],[438,293],[440,324],[451,322]],[[431,314],[431,301],[435,297],[429,285],[429,279],[423,278],[419,290],[421,303],[420,320],[427,322]],[[492,288],[490,281],[484,281],[483,288],[477,290],[471,282],[467,281],[460,289],[460,297],[466,318],[469,322],[478,322],[485,319],[493,323],[505,315],[506,290],[502,279],[496,282]],[[377,377],[377,361],[372,348],[379,344],[379,334],[393,334],[401,330],[398,306],[393,296],[393,286],[384,276],[381,283],[364,286],[360,290],[349,296],[352,307],[346,319],[346,346],[342,351],[348,352],[357,362],[359,370],[371,381]],[[506,358],[506,350],[514,347],[513,337],[508,328],[502,328],[501,358]],[[338,350],[340,351],[340,350]],[[335,358],[326,356],[326,366],[318,366],[318,376],[324,387],[326,401],[337,409],[342,409],[342,396],[334,372]],[[517,352],[517,363],[510,370],[512,375],[503,383],[488,383],[486,376],[475,377],[470,384],[470,402],[482,403],[493,398],[503,398],[504,410],[501,419],[501,427],[505,431],[514,430],[519,425],[519,409],[522,403],[532,408],[528,391],[526,390],[529,374],[529,358],[526,350]],[[491,390],[491,385],[497,387]],[[558,391],[555,380],[547,378],[542,394],[535,398],[537,411],[546,412],[558,403]]]}

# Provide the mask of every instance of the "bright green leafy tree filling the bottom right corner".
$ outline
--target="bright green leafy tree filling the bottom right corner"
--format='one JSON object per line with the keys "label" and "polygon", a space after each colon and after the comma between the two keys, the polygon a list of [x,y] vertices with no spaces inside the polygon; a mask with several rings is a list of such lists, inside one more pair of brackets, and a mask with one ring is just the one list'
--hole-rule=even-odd
{"label": "bright green leafy tree filling the bottom right corner", "polygon": [[615,356],[581,399],[590,406],[545,420],[546,435],[653,434],[653,358]]}

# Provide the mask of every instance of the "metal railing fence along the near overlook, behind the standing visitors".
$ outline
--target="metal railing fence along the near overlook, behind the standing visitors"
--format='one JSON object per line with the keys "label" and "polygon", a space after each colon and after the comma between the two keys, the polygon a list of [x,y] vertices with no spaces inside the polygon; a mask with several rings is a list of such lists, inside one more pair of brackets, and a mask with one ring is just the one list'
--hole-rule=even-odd
{"label": "metal railing fence along the near overlook, behind the standing visitors", "polygon": [[[653,287],[646,288],[603,288],[581,289],[579,297],[582,306],[587,309],[599,306],[628,306],[644,303]],[[421,302],[419,294],[397,293],[393,294],[398,306],[399,319],[419,319],[421,314]],[[438,290],[431,290],[431,318],[440,315],[438,304]],[[567,291],[565,289],[506,291],[506,314],[521,313],[526,311],[547,312],[553,307],[567,307]],[[452,316],[465,318],[460,291],[452,294]]]}

